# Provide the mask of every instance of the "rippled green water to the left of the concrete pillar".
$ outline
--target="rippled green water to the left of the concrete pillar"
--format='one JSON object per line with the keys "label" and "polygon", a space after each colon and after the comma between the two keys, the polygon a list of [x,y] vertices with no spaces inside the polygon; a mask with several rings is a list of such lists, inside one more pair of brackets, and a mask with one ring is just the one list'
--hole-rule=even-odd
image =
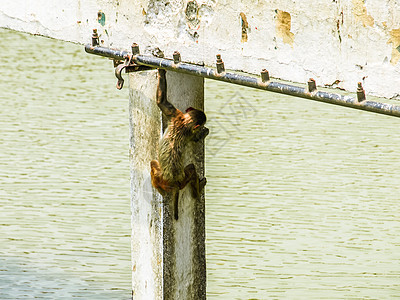
{"label": "rippled green water to the left of the concrete pillar", "polygon": [[0,40],[0,299],[129,299],[127,93],[82,46]]}

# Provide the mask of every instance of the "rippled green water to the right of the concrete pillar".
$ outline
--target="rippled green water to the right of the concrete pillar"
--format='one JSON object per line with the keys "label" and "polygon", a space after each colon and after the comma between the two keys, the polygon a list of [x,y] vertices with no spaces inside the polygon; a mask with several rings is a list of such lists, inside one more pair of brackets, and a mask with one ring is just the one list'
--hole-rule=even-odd
{"label": "rippled green water to the right of the concrete pillar", "polygon": [[215,82],[206,97],[209,298],[400,297],[400,120]]}

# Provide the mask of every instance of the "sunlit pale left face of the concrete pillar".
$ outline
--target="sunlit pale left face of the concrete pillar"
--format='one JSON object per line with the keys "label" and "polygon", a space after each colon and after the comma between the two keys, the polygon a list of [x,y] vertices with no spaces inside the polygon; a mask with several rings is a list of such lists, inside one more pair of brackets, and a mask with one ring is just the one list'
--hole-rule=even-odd
{"label": "sunlit pale left face of the concrete pillar", "polygon": [[160,109],[155,103],[156,71],[130,80],[129,160],[132,211],[132,292],[134,299],[162,299],[162,197],[153,193],[150,161],[157,157]]}

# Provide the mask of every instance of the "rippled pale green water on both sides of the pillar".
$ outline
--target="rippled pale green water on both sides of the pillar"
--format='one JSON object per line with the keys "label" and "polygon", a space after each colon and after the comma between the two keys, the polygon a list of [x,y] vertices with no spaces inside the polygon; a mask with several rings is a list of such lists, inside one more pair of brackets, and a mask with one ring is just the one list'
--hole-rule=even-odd
{"label": "rippled pale green water on both sides of the pillar", "polygon": [[[0,30],[0,299],[129,299],[128,91]],[[400,298],[400,120],[206,82],[209,299]]]}

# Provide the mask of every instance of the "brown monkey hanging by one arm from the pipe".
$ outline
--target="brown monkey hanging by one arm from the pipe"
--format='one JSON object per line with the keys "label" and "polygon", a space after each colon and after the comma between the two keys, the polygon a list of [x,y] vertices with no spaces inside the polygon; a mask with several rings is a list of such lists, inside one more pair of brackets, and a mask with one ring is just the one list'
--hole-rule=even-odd
{"label": "brown monkey hanging by one arm from the pipe", "polygon": [[168,128],[160,140],[158,161],[152,160],[150,163],[151,183],[163,196],[175,193],[174,216],[178,220],[179,190],[190,183],[192,196],[198,198],[206,184],[206,178],[199,179],[194,164],[183,166],[184,149],[189,142],[204,139],[209,130],[204,127],[204,112],[190,107],[183,113],[168,102],[165,74],[165,70],[158,70],[156,99],[158,107],[168,119]]}

